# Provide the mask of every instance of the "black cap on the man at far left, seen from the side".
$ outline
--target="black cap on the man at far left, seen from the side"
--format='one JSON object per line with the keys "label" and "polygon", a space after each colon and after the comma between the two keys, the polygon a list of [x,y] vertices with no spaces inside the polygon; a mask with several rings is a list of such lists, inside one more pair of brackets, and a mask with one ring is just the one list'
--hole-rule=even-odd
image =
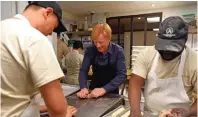
{"label": "black cap on the man at far left, seen from the side", "polygon": [[59,33],[67,31],[62,22],[62,9],[56,1],[28,1],[28,3],[29,5],[41,6],[44,8],[53,8],[54,14],[58,18],[58,27],[54,29],[54,32]]}

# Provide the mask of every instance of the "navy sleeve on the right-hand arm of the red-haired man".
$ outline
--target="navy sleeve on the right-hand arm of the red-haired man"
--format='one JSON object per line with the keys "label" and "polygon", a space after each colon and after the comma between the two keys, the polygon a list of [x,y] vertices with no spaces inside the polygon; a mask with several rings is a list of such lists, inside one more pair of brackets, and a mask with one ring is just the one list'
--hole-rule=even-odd
{"label": "navy sleeve on the right-hand arm of the red-haired man", "polygon": [[107,92],[115,90],[126,80],[126,63],[123,49],[117,55],[116,74],[116,77],[103,87]]}

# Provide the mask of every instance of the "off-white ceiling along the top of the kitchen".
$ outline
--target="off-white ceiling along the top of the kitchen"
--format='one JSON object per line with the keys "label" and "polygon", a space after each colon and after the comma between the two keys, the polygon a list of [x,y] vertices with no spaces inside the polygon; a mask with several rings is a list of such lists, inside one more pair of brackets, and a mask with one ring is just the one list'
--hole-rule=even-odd
{"label": "off-white ceiling along the top of the kitchen", "polygon": [[[120,13],[197,4],[196,1],[60,1],[63,11],[81,17],[89,11]],[[152,7],[152,4],[155,4]]]}

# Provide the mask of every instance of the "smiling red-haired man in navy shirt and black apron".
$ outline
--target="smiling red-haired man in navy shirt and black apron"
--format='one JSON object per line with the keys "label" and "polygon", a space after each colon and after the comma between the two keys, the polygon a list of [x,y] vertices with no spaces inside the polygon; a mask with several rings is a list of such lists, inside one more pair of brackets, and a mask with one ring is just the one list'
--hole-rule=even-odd
{"label": "smiling red-haired man in navy shirt and black apron", "polygon": [[[94,45],[87,48],[79,73],[80,92],[77,96],[86,98],[105,93],[119,94],[119,86],[126,80],[126,65],[123,48],[110,42],[112,30],[108,24],[97,24],[91,33]],[[92,65],[92,78],[87,87],[88,71]]]}

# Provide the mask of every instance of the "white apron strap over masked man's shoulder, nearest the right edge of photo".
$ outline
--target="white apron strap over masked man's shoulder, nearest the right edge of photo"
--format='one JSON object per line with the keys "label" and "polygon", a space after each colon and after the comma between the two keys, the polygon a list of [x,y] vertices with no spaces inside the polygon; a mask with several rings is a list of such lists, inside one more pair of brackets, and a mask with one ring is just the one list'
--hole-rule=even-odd
{"label": "white apron strap over masked man's shoulder, nearest the right edge of photo", "polygon": [[183,75],[185,60],[186,60],[186,49],[183,50],[182,55],[181,55],[181,61],[179,64],[179,69],[178,69],[178,77],[182,77]]}

